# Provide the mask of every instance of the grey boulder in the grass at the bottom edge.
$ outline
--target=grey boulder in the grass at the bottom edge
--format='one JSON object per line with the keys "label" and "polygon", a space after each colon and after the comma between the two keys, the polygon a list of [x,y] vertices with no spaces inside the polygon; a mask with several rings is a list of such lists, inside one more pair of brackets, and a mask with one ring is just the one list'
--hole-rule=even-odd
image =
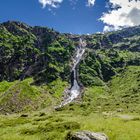
{"label": "grey boulder in the grass at the bottom edge", "polygon": [[109,138],[103,133],[79,131],[75,133],[68,133],[66,140],[109,140]]}

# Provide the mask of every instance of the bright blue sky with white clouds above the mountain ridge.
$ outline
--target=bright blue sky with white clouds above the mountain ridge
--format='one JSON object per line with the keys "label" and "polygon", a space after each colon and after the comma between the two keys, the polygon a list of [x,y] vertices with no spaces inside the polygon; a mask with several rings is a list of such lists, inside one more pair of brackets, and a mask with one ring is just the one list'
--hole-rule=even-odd
{"label": "bright blue sky with white clouds above the mountain ridge", "polygon": [[[53,0],[40,0],[53,1]],[[54,0],[55,1],[55,0]],[[56,0],[57,1],[57,0]],[[59,1],[59,0],[58,0]],[[132,14],[139,16],[140,1],[128,2],[128,0],[95,0],[95,3],[88,5],[90,0],[60,0],[59,6],[53,6],[45,3],[42,8],[39,0],[1,0],[0,1],[0,22],[7,20],[17,20],[25,22],[29,25],[48,26],[60,32],[71,32],[78,34],[102,32],[103,30],[114,30],[120,27],[134,26],[131,17]],[[93,0],[91,0],[93,1]],[[75,4],[74,4],[75,3]],[[131,5],[130,5],[131,3]],[[43,3],[42,3],[43,4]],[[114,18],[114,9],[108,7],[108,4],[119,5],[121,8],[116,10]],[[128,5],[129,4],[129,5]],[[45,7],[46,6],[46,7]],[[129,13],[125,13],[126,8],[131,7]],[[137,9],[132,13],[132,10]],[[112,13],[108,13],[112,10]],[[122,13],[125,17],[121,17]],[[140,16],[139,16],[140,17]],[[134,19],[136,25],[140,24],[140,19]],[[102,21],[99,19],[102,18]],[[118,19],[120,19],[120,22]],[[116,20],[116,21],[115,21]],[[128,25],[124,22],[128,20]]]}

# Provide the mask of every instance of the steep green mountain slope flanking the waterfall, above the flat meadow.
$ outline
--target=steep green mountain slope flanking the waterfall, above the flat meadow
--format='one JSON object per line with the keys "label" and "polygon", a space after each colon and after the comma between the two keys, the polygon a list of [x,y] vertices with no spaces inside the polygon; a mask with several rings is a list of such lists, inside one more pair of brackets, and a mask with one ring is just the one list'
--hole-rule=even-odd
{"label": "steep green mountain slope flanking the waterfall, above the flat meadow", "polygon": [[[105,105],[102,107],[106,102],[102,101],[103,96],[109,101],[110,110],[121,108],[125,103],[139,106],[140,26],[80,36],[9,21],[0,24],[1,112],[45,108],[60,102],[70,83],[71,60],[79,38],[87,43],[78,69],[78,81],[85,87],[85,104],[95,110],[100,106],[106,110]],[[135,81],[134,87],[128,79]],[[118,90],[120,83],[124,91]],[[123,102],[119,100],[122,96],[127,97]],[[131,96],[133,101],[128,102]],[[139,112],[139,109],[134,111]]]}

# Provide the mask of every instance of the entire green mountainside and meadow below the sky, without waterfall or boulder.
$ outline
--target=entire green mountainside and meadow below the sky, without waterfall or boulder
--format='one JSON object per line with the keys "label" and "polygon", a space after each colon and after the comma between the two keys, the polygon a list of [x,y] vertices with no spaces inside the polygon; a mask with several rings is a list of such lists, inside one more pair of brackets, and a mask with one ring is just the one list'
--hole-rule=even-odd
{"label": "entire green mountainside and meadow below the sky, without waterfall or boulder", "polygon": [[[79,39],[86,41],[81,97],[55,109],[71,86]],[[110,140],[140,138],[140,26],[62,34],[21,22],[0,24],[0,139],[64,140],[77,130]]]}

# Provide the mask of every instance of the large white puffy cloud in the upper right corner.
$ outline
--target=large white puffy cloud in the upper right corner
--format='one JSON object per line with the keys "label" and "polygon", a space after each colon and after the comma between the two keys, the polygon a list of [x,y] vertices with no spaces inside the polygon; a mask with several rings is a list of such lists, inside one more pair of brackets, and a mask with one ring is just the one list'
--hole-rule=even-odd
{"label": "large white puffy cloud in the upper right corner", "polygon": [[111,9],[100,18],[104,31],[140,25],[140,0],[109,0]]}

